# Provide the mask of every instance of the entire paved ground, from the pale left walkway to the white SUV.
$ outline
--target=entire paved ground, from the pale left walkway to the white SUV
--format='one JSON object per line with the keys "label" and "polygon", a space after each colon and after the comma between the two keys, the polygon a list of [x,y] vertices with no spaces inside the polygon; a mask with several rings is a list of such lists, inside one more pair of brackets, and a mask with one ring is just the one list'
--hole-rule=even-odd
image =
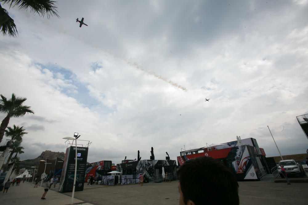
{"label": "entire paved ground, from the pale left walkway to the white SUV", "polygon": [[[273,181],[239,182],[241,204],[307,204],[308,183],[274,183]],[[179,204],[178,181],[171,183],[145,183],[144,186],[120,185],[102,186],[84,185],[85,189],[75,193],[74,203],[78,204]],[[57,185],[58,187],[58,185]],[[20,186],[10,187],[7,194],[0,193],[3,205],[26,204],[57,204],[65,205],[71,202],[71,193],[59,193],[50,190],[46,200],[40,199],[43,188],[33,188],[31,183],[21,183]],[[221,193],[221,197],[224,197]],[[217,199],[219,204],[219,199]]]}

